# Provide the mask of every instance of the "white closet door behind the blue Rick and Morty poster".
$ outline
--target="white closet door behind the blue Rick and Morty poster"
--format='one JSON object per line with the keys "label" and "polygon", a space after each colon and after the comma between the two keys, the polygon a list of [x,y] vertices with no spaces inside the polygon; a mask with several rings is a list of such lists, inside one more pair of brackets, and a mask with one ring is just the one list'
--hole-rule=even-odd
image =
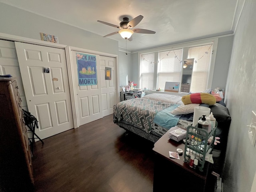
{"label": "white closet door behind the blue Rick and Morty poster", "polygon": [[[76,61],[77,54],[86,54],[96,56],[97,85],[79,86],[78,84],[78,66]],[[76,93],[76,107],[78,116],[78,125],[95,121],[102,118],[102,96],[101,96],[101,76],[99,56],[85,52],[72,51],[72,68],[74,76],[74,87]]]}

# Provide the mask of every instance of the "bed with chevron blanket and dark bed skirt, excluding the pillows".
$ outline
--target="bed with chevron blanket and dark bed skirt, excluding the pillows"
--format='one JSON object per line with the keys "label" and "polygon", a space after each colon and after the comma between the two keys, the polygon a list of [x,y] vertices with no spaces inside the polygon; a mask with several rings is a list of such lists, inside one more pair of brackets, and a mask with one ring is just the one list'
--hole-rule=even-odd
{"label": "bed with chevron blanket and dark bed skirt, excluding the pillows", "polygon": [[[169,128],[154,122],[161,112],[170,112],[182,104],[180,96],[168,94],[149,94],[119,102],[114,106],[114,123],[152,142],[156,142]],[[170,128],[178,123],[180,117],[169,115]],[[156,121],[156,120],[155,120]]]}

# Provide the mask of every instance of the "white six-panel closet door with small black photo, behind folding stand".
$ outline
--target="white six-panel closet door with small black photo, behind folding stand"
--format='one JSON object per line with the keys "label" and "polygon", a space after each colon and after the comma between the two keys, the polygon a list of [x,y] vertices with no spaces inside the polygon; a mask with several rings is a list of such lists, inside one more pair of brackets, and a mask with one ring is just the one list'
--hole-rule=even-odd
{"label": "white six-panel closet door with small black photo, behind folding stand", "polygon": [[36,134],[47,138],[74,128],[65,51],[15,42],[28,110]]}

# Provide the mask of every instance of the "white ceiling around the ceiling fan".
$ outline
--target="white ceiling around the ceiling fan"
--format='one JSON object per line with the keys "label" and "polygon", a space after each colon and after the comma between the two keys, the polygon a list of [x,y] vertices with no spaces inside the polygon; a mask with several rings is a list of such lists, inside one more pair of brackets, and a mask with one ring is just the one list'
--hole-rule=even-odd
{"label": "white ceiling around the ceiling fan", "polygon": [[[142,15],[144,18],[135,28],[153,30],[156,34],[134,33],[133,40],[127,41],[131,52],[232,34],[239,1],[243,0],[0,0],[100,36],[118,29],[97,20],[119,26],[124,16],[132,20]],[[125,49],[126,40],[119,34],[106,38],[117,40],[119,47]]]}

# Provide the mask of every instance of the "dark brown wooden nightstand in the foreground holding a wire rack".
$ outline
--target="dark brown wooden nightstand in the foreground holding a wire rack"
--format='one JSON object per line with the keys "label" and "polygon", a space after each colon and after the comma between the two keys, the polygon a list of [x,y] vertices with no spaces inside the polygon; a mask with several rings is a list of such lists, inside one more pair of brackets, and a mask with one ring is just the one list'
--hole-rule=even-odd
{"label": "dark brown wooden nightstand in the foreground holding a wire rack", "polygon": [[[180,159],[169,157],[169,151],[176,152],[177,148],[183,150]],[[216,177],[211,174],[210,163],[206,163],[204,172],[190,168],[184,162],[185,144],[170,140],[168,132],[155,144],[154,185],[153,191],[188,191],[188,192],[214,192]]]}

